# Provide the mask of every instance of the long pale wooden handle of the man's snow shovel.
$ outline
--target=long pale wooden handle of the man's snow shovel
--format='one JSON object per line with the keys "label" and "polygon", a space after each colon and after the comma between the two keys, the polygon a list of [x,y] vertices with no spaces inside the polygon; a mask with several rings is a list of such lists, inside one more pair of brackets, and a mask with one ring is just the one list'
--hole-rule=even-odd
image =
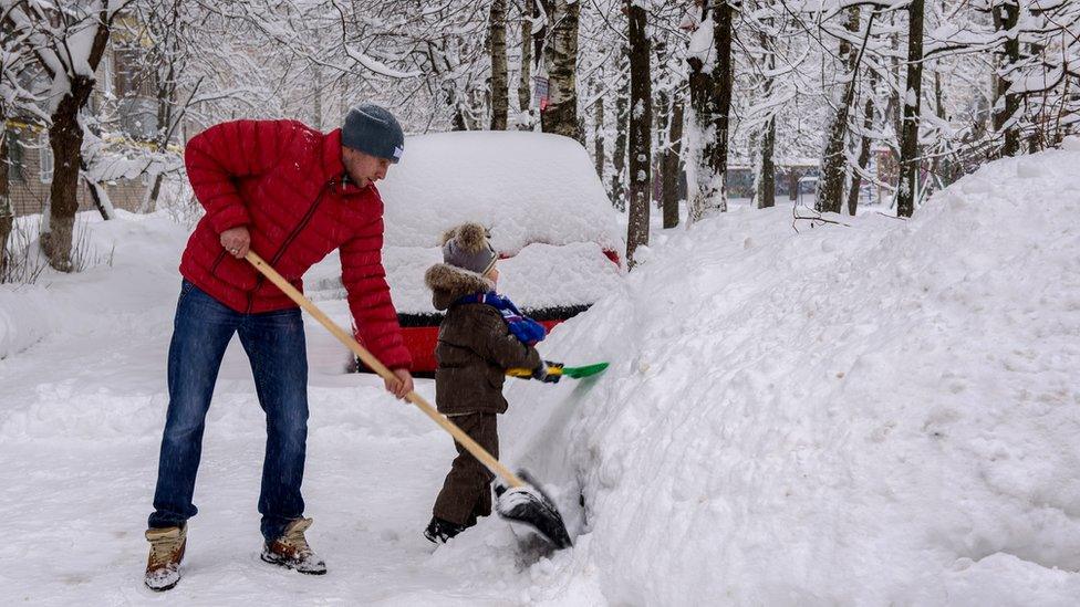
{"label": "long pale wooden handle of the man's snow shovel", "polygon": [[[353,353],[359,356],[368,368],[382,376],[383,379],[398,381],[397,376],[386,368],[385,365],[380,363],[378,359],[372,355],[372,353],[367,352],[367,348],[360,345],[360,343],[357,343],[351,334],[338,326],[338,324],[331,321],[329,316],[323,314],[323,312],[319,310],[315,304],[311,302],[311,300],[303,296],[300,291],[297,291],[297,287],[289,284],[289,281],[284,280],[281,274],[271,268],[269,263],[263,261],[262,258],[256,254],[255,251],[248,251],[245,259],[250,261],[251,265],[255,265],[256,270],[262,272],[264,276],[270,279],[270,282],[276,284],[285,295],[289,295],[289,299],[294,301],[297,305],[307,310],[309,314],[314,316],[315,320],[322,324],[322,326],[326,327],[326,329],[334,335],[334,337],[338,337],[342,344],[345,344],[345,347],[353,350]],[[461,443],[461,446],[465,447],[469,453],[472,453],[474,458],[480,460],[484,465],[488,467],[489,470],[502,477],[502,479],[506,480],[511,488],[525,485],[525,482],[522,482],[517,474],[511,472],[509,468],[502,465],[499,460],[491,457],[491,453],[488,453],[486,449],[477,444],[477,442],[472,440],[471,437],[466,435],[460,428],[458,428],[456,423],[446,419],[443,415],[435,410],[435,407],[432,407],[426,400],[424,400],[424,397],[416,394],[415,390],[409,391],[405,398],[408,399],[408,401],[413,405],[419,407],[419,409],[424,411],[427,417],[435,420],[435,422],[442,426],[444,430],[449,432],[450,436],[454,437],[454,440]]]}

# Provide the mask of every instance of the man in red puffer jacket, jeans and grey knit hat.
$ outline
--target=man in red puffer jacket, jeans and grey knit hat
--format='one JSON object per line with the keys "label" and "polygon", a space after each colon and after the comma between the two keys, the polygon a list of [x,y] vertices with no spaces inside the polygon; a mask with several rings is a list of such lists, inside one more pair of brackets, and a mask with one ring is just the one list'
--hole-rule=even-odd
{"label": "man in red puffer jacket, jeans and grey knit hat", "polygon": [[169,406],[162,438],[154,513],[146,538],[146,585],[179,582],[202,429],[226,346],[239,334],[267,416],[259,512],[262,559],[301,573],[326,566],[304,538],[300,494],[308,436],[308,363],[300,308],[243,257],[253,250],[298,289],[334,249],[360,337],[396,377],[386,389],[413,389],[382,265],[383,202],[375,181],[404,150],[386,109],[363,104],[344,126],[322,134],[293,121],[237,121],[193,138],[188,179],[206,216],[180,261],[184,282],[168,353]]}

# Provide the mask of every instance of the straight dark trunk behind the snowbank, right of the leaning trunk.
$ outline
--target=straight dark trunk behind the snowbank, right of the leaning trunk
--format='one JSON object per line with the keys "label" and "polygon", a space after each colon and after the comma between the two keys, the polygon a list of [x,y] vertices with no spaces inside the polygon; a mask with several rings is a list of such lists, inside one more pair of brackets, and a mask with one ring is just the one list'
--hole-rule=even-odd
{"label": "straight dark trunk behind the snowbank, right of the leaning trunk", "polygon": [[896,214],[911,217],[915,211],[918,177],[920,100],[923,96],[923,11],[925,0],[912,0],[907,7],[911,27],[907,34],[907,83],[904,94],[904,125],[900,139],[900,182]]}

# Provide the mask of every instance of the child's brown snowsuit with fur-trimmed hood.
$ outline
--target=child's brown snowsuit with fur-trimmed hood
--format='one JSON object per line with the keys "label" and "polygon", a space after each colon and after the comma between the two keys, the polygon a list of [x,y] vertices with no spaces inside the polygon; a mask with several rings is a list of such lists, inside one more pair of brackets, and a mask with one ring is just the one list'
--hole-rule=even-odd
{"label": "child's brown snowsuit with fur-trimmed hood", "polygon": [[[463,295],[486,293],[494,285],[475,272],[437,263],[424,275],[433,291],[436,310],[445,310],[439,325],[435,359],[435,404],[492,456],[499,457],[496,415],[506,412],[502,397],[506,369],[533,369],[542,362],[536,348],[518,341],[495,307],[467,303],[454,305]],[[491,514],[491,472],[460,444],[434,514],[458,525],[472,525],[477,516]]]}

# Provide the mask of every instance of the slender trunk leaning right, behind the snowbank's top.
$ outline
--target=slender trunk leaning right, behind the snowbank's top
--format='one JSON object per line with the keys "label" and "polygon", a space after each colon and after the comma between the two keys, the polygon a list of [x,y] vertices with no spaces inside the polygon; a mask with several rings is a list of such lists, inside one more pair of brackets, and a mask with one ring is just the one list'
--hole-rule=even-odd
{"label": "slender trunk leaning right, behind the snowbank's top", "polygon": [[[848,13],[847,29],[849,32],[859,31],[859,7],[852,7]],[[866,28],[869,38],[870,28]],[[864,44],[865,45],[865,44]],[[844,169],[848,167],[848,115],[854,102],[855,83],[859,80],[859,53],[852,52],[851,44],[842,40],[840,55],[844,60],[848,84],[844,94],[837,106],[837,115],[829,127],[829,138],[825,151],[821,158],[821,180],[818,182],[814,208],[821,212],[839,213],[843,201]]]}

